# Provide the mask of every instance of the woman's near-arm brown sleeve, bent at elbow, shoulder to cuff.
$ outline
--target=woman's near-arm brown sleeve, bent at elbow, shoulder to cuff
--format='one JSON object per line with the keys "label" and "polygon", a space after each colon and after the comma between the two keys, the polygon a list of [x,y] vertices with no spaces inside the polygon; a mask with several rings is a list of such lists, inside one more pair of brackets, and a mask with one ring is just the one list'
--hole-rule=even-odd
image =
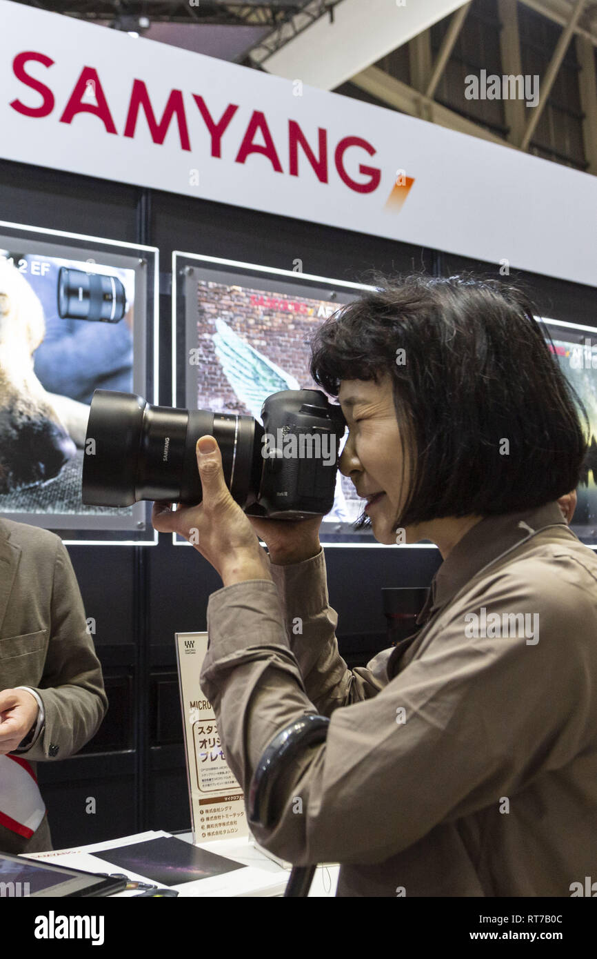
{"label": "woman's near-arm brown sleeve, bent at elbow, shoulder to cuff", "polygon": [[[500,617],[540,610],[540,642],[471,639],[464,616],[479,605]],[[440,823],[515,802],[593,735],[594,643],[572,642],[587,636],[587,622],[597,628],[592,596],[559,596],[555,575],[534,588],[508,574],[481,583],[434,622],[418,658],[378,695],[333,712],[326,742],[287,769],[272,796],[274,825],[254,830],[257,840],[297,865],[376,863]],[[210,599],[201,684],[245,794],[275,734],[313,711],[282,625],[269,582]]]}

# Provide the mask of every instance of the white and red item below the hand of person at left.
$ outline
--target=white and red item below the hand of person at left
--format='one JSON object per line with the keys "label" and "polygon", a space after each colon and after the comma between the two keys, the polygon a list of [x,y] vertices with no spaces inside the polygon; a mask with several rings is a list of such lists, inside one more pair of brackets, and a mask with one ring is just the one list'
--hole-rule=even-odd
{"label": "white and red item below the hand of person at left", "polygon": [[20,756],[0,756],[0,825],[31,839],[45,813],[29,762]]}

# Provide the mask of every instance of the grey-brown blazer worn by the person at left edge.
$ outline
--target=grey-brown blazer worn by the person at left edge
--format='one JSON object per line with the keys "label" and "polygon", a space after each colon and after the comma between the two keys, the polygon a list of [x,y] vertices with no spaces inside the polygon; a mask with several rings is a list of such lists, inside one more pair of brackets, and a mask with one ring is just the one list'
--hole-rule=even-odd
{"label": "grey-brown blazer worn by the person at left edge", "polygon": [[0,690],[16,686],[31,687],[43,703],[41,734],[22,753],[34,767],[80,750],[107,709],[66,548],[56,533],[0,518]]}

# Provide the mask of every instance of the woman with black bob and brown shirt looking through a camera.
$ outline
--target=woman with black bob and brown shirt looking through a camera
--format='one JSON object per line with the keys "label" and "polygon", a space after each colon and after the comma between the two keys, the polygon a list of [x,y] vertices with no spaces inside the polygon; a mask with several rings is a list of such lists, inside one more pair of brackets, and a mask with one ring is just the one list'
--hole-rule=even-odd
{"label": "woman with black bob and brown shirt looking through a camera", "polygon": [[154,506],[222,578],[201,684],[245,793],[280,730],[331,717],[257,838],[339,861],[339,896],[569,896],[597,861],[597,559],[558,504],[586,441],[532,307],[492,281],[386,284],[320,328],[311,373],[346,416],[363,522],[444,563],[419,632],[350,670],[319,520],[249,521],[212,437],[202,505]]}

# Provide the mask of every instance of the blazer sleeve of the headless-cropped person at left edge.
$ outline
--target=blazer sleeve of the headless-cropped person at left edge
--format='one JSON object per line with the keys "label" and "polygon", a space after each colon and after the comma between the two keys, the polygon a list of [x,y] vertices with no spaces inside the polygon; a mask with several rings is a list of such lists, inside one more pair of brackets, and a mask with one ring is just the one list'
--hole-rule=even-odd
{"label": "blazer sleeve of the headless-cropped person at left edge", "polygon": [[98,731],[107,710],[102,667],[87,631],[79,584],[68,552],[57,538],[50,609],[50,638],[39,687],[44,708],[40,736],[28,760],[62,760]]}

